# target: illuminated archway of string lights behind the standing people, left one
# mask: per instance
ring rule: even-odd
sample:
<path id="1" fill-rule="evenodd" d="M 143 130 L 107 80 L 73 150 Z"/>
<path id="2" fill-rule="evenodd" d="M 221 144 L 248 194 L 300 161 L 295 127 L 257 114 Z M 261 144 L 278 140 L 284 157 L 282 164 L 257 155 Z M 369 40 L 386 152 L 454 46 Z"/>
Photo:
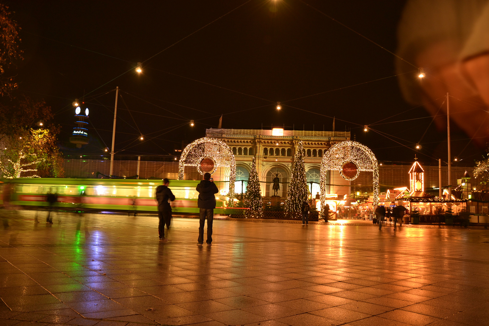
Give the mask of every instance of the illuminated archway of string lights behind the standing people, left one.
<path id="1" fill-rule="evenodd" d="M 206 161 L 207 160 L 207 161 Z M 209 171 L 202 171 L 203 163 L 207 163 Z M 236 161 L 233 151 L 222 140 L 203 137 L 190 143 L 183 150 L 178 162 L 178 180 L 183 180 L 186 166 L 195 166 L 200 174 L 213 173 L 217 168 L 229 167 L 229 193 L 230 202 L 234 198 L 234 182 L 236 181 Z"/>

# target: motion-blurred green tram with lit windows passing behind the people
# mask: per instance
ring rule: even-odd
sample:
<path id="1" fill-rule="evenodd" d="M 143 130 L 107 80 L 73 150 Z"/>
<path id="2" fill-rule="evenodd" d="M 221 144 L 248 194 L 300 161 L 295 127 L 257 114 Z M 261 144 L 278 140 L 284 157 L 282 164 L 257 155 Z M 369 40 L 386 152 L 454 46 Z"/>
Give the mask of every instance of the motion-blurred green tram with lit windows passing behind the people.
<path id="1" fill-rule="evenodd" d="M 47 207 L 47 193 L 56 193 L 55 207 L 66 210 L 91 212 L 147 212 L 156 213 L 156 187 L 161 180 L 132 179 L 58 179 L 17 178 L 3 179 L 1 203 L 9 200 L 10 205 L 25 209 Z M 170 180 L 170 189 L 175 195 L 171 203 L 173 212 L 199 213 L 195 190 L 200 180 Z M 239 214 L 243 209 L 228 208 L 224 186 L 226 182 L 215 182 L 220 192 L 216 194 L 215 214 Z"/>

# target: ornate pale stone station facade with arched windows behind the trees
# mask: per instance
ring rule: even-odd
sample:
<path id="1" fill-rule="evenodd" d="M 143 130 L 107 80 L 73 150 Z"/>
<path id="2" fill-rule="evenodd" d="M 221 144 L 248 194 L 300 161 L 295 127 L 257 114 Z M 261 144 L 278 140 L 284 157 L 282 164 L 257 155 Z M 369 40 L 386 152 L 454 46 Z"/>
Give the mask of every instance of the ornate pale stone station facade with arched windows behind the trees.
<path id="1" fill-rule="evenodd" d="M 350 140 L 350 132 L 345 131 L 311 131 L 284 130 L 273 128 L 261 129 L 207 129 L 206 137 L 222 140 L 233 151 L 236 160 L 235 194 L 241 195 L 246 191 L 246 184 L 251 171 L 252 158 L 256 158 L 258 177 L 261 183 L 262 196 L 274 195 L 273 179 L 279 178 L 280 189 L 277 196 L 285 199 L 290 182 L 292 163 L 297 144 L 302 141 L 306 166 L 308 188 L 315 196 L 319 193 L 319 178 L 321 161 L 328 149 L 336 143 Z M 228 181 L 229 171 L 216 171 L 215 179 Z M 349 193 L 348 181 L 343 179 L 338 171 L 330 171 L 328 184 L 331 186 L 327 193 L 339 196 Z"/>

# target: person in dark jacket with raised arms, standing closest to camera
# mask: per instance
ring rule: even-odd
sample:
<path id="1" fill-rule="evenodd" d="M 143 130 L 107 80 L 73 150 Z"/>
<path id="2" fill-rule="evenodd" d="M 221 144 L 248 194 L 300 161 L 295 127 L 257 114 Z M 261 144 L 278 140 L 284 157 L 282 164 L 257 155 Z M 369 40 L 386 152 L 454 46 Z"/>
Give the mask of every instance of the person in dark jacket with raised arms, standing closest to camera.
<path id="1" fill-rule="evenodd" d="M 199 225 L 199 239 L 197 239 L 197 245 L 201 246 L 204 243 L 204 224 L 207 217 L 207 245 L 212 243 L 212 221 L 214 220 L 214 208 L 216 208 L 216 197 L 214 194 L 219 193 L 214 180 L 211 178 L 210 173 L 204 174 L 204 179 L 200 181 L 195 188 L 199 192 L 199 199 L 197 199 L 197 207 L 199 207 L 200 225 Z"/>

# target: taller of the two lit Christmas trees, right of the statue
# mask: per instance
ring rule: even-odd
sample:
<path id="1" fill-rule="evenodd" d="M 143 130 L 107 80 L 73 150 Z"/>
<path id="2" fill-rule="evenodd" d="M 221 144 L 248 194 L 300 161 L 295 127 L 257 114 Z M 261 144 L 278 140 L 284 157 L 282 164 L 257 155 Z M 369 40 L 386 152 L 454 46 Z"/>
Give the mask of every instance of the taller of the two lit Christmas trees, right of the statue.
<path id="1" fill-rule="evenodd" d="M 285 213 L 287 216 L 300 216 L 302 204 L 308 200 L 308 188 L 306 180 L 306 167 L 304 166 L 304 147 L 299 141 L 294 155 L 292 175 L 287 188 Z"/>

